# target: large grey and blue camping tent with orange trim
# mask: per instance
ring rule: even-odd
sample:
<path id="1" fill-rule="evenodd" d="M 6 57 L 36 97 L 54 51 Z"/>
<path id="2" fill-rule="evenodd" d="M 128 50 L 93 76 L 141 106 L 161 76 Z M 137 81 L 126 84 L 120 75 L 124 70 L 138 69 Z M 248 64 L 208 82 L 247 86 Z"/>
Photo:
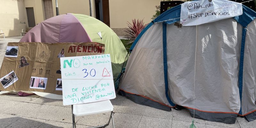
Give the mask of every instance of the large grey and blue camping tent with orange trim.
<path id="1" fill-rule="evenodd" d="M 243 5 L 240 16 L 180 28 L 180 11 L 165 11 L 136 38 L 119 93 L 154 108 L 183 106 L 208 121 L 255 120 L 256 12 Z"/>

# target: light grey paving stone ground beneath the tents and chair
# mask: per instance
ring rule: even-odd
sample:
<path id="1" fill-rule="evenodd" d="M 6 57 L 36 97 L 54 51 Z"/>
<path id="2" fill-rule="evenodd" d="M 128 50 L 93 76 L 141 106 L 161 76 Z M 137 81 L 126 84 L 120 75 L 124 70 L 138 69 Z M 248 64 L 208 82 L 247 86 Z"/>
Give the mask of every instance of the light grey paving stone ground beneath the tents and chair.
<path id="1" fill-rule="evenodd" d="M 0 66 L 8 42 L 19 42 L 20 36 L 0 38 Z M 192 117 L 188 110 L 164 111 L 143 106 L 116 95 L 114 106 L 115 128 L 189 128 Z M 77 128 L 102 125 L 110 113 L 77 116 Z M 106 128 L 112 128 L 112 120 Z M 237 117 L 235 124 L 223 124 L 195 119 L 197 128 L 256 128 L 256 121 L 247 122 Z M 0 95 L 0 128 L 72 128 L 71 106 L 62 100 L 47 99 L 38 95 L 20 97 Z"/>

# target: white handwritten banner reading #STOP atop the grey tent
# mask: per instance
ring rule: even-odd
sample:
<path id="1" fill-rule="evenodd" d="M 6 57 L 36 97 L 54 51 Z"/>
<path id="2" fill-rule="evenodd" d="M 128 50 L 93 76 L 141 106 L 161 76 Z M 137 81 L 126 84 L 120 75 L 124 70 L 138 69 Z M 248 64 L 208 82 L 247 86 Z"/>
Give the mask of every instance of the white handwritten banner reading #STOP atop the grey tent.
<path id="1" fill-rule="evenodd" d="M 241 3 L 228 0 L 199 0 L 181 4 L 180 23 L 193 26 L 243 14 Z"/>

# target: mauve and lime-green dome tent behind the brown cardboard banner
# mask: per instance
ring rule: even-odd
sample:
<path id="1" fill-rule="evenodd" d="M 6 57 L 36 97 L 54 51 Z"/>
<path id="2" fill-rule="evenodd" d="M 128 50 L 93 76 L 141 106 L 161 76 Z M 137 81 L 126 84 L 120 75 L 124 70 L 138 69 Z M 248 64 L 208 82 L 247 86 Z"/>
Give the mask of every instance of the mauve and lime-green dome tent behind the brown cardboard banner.
<path id="1" fill-rule="evenodd" d="M 67 13 L 36 25 L 20 42 L 98 42 L 105 44 L 105 54 L 110 54 L 114 80 L 121 72 L 127 51 L 116 33 L 93 17 Z M 128 59 L 128 58 L 127 58 Z"/>

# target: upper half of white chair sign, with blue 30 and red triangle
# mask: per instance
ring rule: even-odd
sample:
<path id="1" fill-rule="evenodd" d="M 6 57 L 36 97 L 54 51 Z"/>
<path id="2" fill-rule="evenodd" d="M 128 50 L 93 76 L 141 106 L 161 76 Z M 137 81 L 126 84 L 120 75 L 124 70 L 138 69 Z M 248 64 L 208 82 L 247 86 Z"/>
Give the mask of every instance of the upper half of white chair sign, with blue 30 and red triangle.
<path id="1" fill-rule="evenodd" d="M 61 79 L 113 79 L 110 54 L 61 57 Z"/>

